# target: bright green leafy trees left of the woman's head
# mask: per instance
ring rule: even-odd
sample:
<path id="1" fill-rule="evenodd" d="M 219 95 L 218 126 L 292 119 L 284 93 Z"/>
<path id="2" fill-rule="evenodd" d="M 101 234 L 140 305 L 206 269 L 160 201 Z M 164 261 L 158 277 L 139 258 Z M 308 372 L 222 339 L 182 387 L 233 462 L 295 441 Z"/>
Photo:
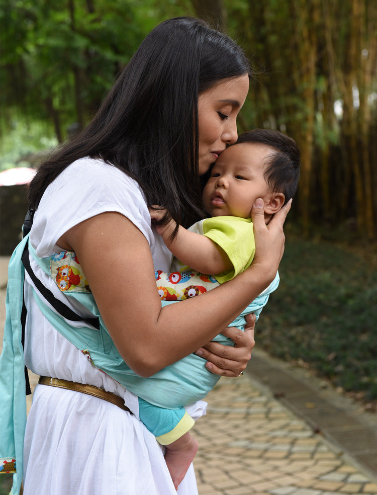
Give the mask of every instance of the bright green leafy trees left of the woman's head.
<path id="1" fill-rule="evenodd" d="M 2 108 L 50 119 L 60 139 L 83 125 L 145 35 L 189 2 L 3 0 Z M 2 119 L 2 127 L 5 122 Z"/>

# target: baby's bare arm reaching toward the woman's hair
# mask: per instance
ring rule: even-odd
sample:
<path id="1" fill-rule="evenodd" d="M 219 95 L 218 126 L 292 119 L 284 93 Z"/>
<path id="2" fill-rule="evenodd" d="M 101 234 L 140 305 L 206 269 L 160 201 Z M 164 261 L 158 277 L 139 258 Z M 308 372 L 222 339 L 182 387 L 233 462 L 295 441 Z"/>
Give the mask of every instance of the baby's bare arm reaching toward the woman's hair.
<path id="1" fill-rule="evenodd" d="M 152 220 L 161 219 L 165 211 L 163 208 L 150 209 Z M 225 251 L 205 235 L 190 232 L 179 225 L 178 233 L 172 239 L 171 234 L 175 227 L 176 223 L 171 218 L 164 225 L 156 226 L 156 230 L 171 253 L 181 263 L 207 275 L 217 275 L 233 268 Z"/>

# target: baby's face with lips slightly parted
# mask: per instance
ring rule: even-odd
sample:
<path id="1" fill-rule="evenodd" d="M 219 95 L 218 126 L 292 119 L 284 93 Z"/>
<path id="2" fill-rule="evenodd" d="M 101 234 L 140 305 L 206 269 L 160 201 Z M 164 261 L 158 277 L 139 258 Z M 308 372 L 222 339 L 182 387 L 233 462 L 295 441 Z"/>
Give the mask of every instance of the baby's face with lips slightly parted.
<path id="1" fill-rule="evenodd" d="M 263 175 L 265 158 L 272 152 L 254 143 L 235 144 L 223 151 L 203 191 L 207 213 L 250 218 L 254 201 L 266 202 L 271 194 Z"/>

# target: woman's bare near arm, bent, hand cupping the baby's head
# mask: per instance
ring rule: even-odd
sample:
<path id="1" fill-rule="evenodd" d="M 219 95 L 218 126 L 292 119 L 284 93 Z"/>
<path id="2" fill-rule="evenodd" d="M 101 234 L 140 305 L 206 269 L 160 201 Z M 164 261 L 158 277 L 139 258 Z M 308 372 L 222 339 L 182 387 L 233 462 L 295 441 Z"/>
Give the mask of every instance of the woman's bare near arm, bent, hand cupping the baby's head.
<path id="1" fill-rule="evenodd" d="M 120 213 L 89 218 L 68 230 L 58 243 L 77 254 L 123 359 L 137 374 L 149 376 L 211 341 L 268 286 L 284 250 L 282 225 L 288 210 L 276 214 L 267 227 L 263 203 L 254 208 L 257 251 L 253 264 L 201 297 L 164 308 L 156 291 L 149 244 Z"/>

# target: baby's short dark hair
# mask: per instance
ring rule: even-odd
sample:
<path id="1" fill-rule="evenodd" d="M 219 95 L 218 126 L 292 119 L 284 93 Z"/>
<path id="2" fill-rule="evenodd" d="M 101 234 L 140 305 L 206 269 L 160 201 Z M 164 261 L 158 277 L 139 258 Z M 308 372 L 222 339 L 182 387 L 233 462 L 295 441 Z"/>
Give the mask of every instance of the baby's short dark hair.
<path id="1" fill-rule="evenodd" d="M 273 148 L 268 156 L 264 179 L 275 193 L 284 194 L 286 204 L 296 193 L 300 179 L 300 149 L 296 141 L 279 131 L 253 129 L 238 136 L 235 144 L 262 144 Z"/>

